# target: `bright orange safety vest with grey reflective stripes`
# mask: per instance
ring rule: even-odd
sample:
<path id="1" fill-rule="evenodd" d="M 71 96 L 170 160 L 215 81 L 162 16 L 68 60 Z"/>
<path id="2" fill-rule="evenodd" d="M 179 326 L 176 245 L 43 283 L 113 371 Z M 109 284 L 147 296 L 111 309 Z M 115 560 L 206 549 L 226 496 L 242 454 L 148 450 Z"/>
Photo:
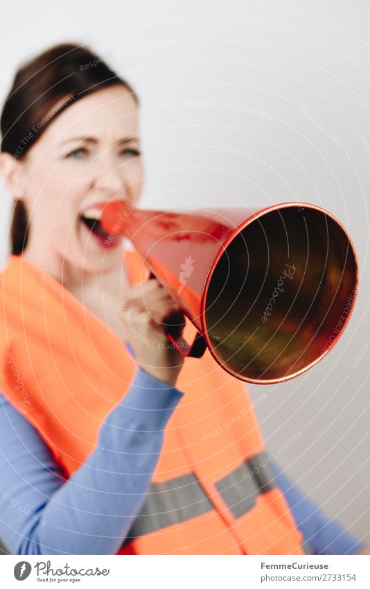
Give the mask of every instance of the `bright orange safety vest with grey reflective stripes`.
<path id="1" fill-rule="evenodd" d="M 148 278 L 136 252 L 124 261 L 132 284 Z M 11 255 L 0 285 L 0 390 L 68 478 L 124 402 L 136 363 L 121 338 L 42 268 Z M 207 350 L 185 360 L 177 388 L 185 394 L 117 554 L 303 554 L 245 383 Z"/>

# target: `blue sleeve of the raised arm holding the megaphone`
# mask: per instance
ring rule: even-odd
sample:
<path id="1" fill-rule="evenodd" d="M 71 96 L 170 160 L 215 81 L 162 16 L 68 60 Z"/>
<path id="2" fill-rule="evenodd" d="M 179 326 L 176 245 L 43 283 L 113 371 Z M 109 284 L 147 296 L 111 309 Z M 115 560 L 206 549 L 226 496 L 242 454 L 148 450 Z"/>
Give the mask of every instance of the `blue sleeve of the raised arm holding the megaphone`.
<path id="1" fill-rule="evenodd" d="M 115 554 L 145 500 L 184 393 L 141 368 L 66 481 L 36 429 L 0 395 L 0 538 L 12 554 Z"/>

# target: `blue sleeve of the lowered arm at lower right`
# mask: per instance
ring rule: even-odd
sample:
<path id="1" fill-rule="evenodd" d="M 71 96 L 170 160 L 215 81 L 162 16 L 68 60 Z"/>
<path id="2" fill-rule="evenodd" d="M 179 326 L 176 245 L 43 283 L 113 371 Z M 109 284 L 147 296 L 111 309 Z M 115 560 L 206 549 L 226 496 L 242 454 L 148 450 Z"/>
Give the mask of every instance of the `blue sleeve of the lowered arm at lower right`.
<path id="1" fill-rule="evenodd" d="M 276 464 L 272 462 L 270 466 L 311 554 L 357 554 L 364 547 L 364 543 L 346 531 L 339 522 L 326 517 Z"/>

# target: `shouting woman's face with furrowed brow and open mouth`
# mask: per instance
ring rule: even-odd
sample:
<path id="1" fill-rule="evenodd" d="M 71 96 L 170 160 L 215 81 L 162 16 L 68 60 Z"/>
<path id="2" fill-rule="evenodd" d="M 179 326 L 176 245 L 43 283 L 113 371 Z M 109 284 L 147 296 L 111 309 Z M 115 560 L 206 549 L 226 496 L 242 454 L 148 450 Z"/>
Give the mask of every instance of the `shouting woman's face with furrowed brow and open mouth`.
<path id="1" fill-rule="evenodd" d="M 107 245 L 107 234 L 98 223 L 93 230 L 91 225 L 106 203 L 134 205 L 139 200 L 143 167 L 138 136 L 136 102 L 123 85 L 72 103 L 49 123 L 17 161 L 30 219 L 26 251 L 33 257 L 45 254 L 46 267 L 49 255 L 50 262 L 56 257 L 89 273 L 102 271 L 103 258 L 104 271 L 122 261 L 123 237 Z M 84 214 L 90 221 L 83 221 Z"/>

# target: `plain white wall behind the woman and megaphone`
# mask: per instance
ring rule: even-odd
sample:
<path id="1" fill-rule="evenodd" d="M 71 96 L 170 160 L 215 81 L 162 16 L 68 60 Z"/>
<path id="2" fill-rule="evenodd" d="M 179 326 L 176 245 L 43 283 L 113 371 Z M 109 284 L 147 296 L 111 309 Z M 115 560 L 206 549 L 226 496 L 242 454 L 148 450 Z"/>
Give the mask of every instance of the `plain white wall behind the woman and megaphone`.
<path id="1" fill-rule="evenodd" d="M 344 336 L 305 375 L 249 391 L 267 393 L 257 412 L 269 452 L 301 432 L 279 464 L 370 542 L 369 3 L 7 0 L 0 21 L 1 99 L 20 60 L 66 40 L 88 42 L 134 85 L 148 208 L 303 200 L 346 225 L 360 294 Z M 3 187 L 0 197 L 3 263 Z"/>

